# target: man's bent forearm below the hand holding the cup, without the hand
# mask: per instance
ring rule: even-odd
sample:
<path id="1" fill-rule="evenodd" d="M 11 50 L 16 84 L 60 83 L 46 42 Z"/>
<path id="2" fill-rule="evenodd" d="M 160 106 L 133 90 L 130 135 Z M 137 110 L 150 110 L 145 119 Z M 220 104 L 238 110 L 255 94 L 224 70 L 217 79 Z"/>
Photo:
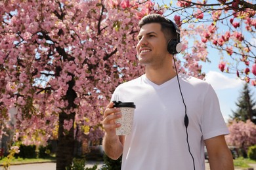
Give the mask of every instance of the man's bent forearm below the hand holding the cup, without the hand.
<path id="1" fill-rule="evenodd" d="M 123 144 L 120 142 L 118 136 L 110 138 L 105 134 L 102 145 L 106 155 L 113 160 L 117 160 L 123 153 Z"/>

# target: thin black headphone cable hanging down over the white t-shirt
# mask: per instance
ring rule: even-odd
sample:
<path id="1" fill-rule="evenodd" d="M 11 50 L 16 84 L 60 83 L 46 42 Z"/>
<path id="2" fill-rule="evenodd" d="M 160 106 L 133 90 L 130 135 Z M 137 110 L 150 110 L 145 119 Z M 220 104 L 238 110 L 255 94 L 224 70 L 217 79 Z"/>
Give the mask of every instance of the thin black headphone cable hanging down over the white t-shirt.
<path id="1" fill-rule="evenodd" d="M 173 63 L 174 63 L 174 66 L 175 66 L 175 71 L 176 71 L 177 80 L 178 80 L 178 84 L 179 84 L 179 90 L 180 90 L 180 92 L 181 92 L 181 84 L 180 84 L 180 81 L 179 81 L 179 75 L 178 75 L 178 71 L 177 71 L 177 67 L 176 67 L 176 63 L 175 63 L 174 54 L 173 54 Z M 185 124 L 185 127 L 186 127 L 186 143 L 188 143 L 188 152 L 190 153 L 190 156 L 192 157 L 193 165 L 194 165 L 194 170 L 196 170 L 195 161 L 194 161 L 194 156 L 193 156 L 192 153 L 190 152 L 190 144 L 189 144 L 189 142 L 188 142 L 188 115 L 186 114 L 186 104 L 185 104 L 185 102 L 184 102 L 184 97 L 183 97 L 183 95 L 182 95 L 182 92 L 181 92 L 181 97 L 182 97 L 182 102 L 183 102 L 184 107 L 185 107 L 184 124 Z"/>

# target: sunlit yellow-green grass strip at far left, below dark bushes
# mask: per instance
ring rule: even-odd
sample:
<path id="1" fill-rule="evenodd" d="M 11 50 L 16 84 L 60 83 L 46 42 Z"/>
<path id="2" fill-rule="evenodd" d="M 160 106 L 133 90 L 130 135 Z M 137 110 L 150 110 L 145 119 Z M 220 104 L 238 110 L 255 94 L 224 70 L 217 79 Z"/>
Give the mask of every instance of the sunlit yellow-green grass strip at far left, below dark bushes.
<path id="1" fill-rule="evenodd" d="M 7 158 L 3 158 L 2 160 L 0 160 L 0 165 L 3 165 L 3 163 L 5 163 L 7 161 Z M 56 158 L 17 158 L 17 159 L 12 159 L 11 160 L 11 165 L 15 165 L 15 164 L 23 164 L 23 163 L 42 163 L 42 162 L 49 162 L 49 161 L 56 161 Z"/>

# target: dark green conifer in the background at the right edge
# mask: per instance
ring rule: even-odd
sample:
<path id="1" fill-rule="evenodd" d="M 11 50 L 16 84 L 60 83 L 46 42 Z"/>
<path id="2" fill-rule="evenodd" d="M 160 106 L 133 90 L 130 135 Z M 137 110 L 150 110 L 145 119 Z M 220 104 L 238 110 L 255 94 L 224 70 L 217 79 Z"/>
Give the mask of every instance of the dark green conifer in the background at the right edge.
<path id="1" fill-rule="evenodd" d="M 240 97 L 238 98 L 238 102 L 236 105 L 238 109 L 233 111 L 232 119 L 234 120 L 242 120 L 245 122 L 246 120 L 251 120 L 254 124 L 256 124 L 256 102 L 252 99 L 252 94 L 250 93 L 248 84 L 244 85 L 244 88 L 241 92 Z"/>

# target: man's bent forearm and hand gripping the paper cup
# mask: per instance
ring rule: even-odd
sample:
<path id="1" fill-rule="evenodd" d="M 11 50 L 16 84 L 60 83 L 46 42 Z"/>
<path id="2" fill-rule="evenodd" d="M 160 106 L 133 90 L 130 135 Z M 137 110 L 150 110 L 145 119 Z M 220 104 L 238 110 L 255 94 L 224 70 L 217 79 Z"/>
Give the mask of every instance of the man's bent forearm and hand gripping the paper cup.
<path id="1" fill-rule="evenodd" d="M 125 136 L 117 136 L 116 128 L 121 126 L 116 124 L 115 120 L 121 117 L 119 109 L 113 108 L 114 103 L 110 102 L 103 116 L 103 127 L 106 131 L 102 145 L 106 155 L 113 160 L 117 160 L 123 153 L 123 144 Z"/>

